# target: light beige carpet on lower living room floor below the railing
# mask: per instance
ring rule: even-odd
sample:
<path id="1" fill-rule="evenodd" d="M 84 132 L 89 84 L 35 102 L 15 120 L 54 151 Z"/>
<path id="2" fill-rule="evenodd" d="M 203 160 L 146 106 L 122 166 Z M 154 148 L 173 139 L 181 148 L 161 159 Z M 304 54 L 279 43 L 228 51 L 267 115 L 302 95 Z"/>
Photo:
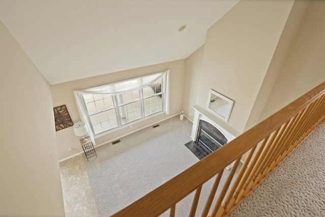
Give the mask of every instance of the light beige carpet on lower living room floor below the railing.
<path id="1" fill-rule="evenodd" d="M 125 136 L 117 144 L 96 148 L 98 158 L 86 162 L 102 217 L 126 207 L 199 161 L 184 145 L 191 140 L 192 124 L 187 119 L 174 117 L 159 125 Z M 227 170 L 223 172 L 221 183 L 228 174 Z M 198 213 L 213 182 L 214 179 L 209 180 L 202 188 Z M 188 215 L 193 196 L 194 193 L 177 204 L 176 216 Z M 162 216 L 169 216 L 169 211 Z"/>

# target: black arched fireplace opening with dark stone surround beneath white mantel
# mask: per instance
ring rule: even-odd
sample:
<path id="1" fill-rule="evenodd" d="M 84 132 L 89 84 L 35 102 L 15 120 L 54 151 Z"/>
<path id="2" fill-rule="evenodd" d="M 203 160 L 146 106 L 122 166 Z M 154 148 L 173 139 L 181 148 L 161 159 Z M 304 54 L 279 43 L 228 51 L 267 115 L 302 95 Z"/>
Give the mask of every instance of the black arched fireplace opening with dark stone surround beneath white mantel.
<path id="1" fill-rule="evenodd" d="M 207 152 L 207 154 L 216 151 L 228 142 L 225 136 L 216 127 L 203 120 L 200 120 L 197 135 L 196 142 Z"/>

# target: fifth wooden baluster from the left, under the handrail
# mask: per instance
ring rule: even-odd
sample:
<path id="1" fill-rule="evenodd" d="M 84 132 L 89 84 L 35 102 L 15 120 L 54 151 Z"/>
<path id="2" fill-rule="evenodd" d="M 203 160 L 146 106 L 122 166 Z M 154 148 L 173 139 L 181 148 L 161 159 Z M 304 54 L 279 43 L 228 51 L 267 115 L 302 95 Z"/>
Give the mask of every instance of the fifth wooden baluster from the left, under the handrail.
<path id="1" fill-rule="evenodd" d="M 224 212 L 221 215 L 226 213 L 227 210 L 229 210 L 231 208 L 231 206 L 233 205 L 233 203 L 235 202 L 234 193 L 240 183 L 240 180 L 243 178 L 244 172 L 247 169 L 248 163 L 249 163 L 250 159 L 252 158 L 256 147 L 257 147 L 257 144 L 255 144 L 255 146 L 250 150 L 248 156 L 246 157 L 244 164 L 242 165 L 242 167 L 240 168 L 240 171 L 238 172 L 238 174 L 236 176 L 236 179 L 235 179 L 232 187 L 230 188 L 228 194 L 226 195 L 224 202 L 222 203 Z"/>

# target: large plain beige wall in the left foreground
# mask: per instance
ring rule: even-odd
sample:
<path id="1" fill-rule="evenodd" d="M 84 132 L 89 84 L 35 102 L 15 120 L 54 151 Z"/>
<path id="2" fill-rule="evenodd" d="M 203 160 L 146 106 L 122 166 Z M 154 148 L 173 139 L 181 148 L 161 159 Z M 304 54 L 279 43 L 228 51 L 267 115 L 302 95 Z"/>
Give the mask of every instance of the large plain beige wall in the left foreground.
<path id="1" fill-rule="evenodd" d="M 48 82 L 0 22 L 1 216 L 64 216 Z"/>

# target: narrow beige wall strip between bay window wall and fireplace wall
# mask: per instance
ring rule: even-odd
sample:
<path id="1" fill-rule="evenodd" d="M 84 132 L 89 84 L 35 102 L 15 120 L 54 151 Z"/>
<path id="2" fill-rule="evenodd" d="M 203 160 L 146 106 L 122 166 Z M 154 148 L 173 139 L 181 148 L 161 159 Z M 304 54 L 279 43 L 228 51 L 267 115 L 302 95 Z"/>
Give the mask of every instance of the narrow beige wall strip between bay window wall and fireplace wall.
<path id="1" fill-rule="evenodd" d="M 186 58 L 182 110 L 193 121 L 192 106 L 197 103 L 204 45 Z"/>

